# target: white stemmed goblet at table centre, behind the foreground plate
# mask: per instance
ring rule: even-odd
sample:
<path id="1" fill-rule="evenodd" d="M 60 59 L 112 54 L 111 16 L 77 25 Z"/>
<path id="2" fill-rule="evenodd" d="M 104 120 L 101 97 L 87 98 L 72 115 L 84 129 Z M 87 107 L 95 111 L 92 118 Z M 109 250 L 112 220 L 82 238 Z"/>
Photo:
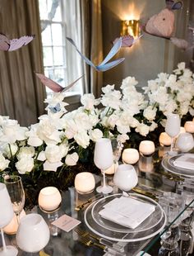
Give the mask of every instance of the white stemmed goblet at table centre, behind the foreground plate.
<path id="1" fill-rule="evenodd" d="M 105 179 L 105 169 L 109 168 L 113 164 L 113 148 L 111 145 L 111 140 L 101 138 L 96 141 L 94 162 L 103 173 L 103 186 L 97 187 L 96 191 L 99 193 L 103 192 L 104 194 L 112 192 L 113 187 L 107 185 Z"/>

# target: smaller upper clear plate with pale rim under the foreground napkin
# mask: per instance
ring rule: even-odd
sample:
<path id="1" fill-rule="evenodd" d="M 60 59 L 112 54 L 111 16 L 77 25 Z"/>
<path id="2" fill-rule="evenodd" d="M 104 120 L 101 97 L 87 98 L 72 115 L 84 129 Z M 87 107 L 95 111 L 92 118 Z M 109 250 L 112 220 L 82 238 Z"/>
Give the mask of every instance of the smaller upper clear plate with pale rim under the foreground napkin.
<path id="1" fill-rule="evenodd" d="M 155 211 L 148 217 L 146 220 L 144 220 L 141 225 L 138 225 L 136 229 L 130 229 L 128 227 L 124 227 L 123 225 L 118 225 L 116 223 L 104 219 L 102 216 L 99 215 L 99 211 L 104 209 L 104 206 L 109 202 L 112 201 L 116 197 L 122 197 L 122 194 L 114 194 L 102 199 L 99 199 L 98 201 L 95 202 L 94 206 L 91 209 L 91 216 L 95 222 L 104 227 L 104 229 L 111 230 L 113 232 L 121 232 L 121 233 L 135 233 L 135 232 L 140 232 L 140 231 L 146 231 L 150 230 L 151 228 L 154 228 L 155 225 L 158 225 L 159 222 L 163 218 L 163 211 L 161 209 L 161 206 L 159 204 L 150 199 L 149 197 L 144 197 L 138 194 L 132 194 L 131 197 L 135 198 L 136 200 L 143 201 L 145 203 L 149 203 L 155 206 Z"/>

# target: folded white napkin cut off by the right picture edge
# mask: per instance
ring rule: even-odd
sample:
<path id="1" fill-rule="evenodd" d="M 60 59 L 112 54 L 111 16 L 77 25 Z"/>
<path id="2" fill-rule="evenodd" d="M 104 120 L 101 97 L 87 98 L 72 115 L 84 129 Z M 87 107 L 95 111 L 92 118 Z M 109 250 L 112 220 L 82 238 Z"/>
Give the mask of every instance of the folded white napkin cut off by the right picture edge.
<path id="1" fill-rule="evenodd" d="M 179 168 L 187 168 L 194 171 L 194 154 L 183 154 L 173 161 L 173 165 Z"/>

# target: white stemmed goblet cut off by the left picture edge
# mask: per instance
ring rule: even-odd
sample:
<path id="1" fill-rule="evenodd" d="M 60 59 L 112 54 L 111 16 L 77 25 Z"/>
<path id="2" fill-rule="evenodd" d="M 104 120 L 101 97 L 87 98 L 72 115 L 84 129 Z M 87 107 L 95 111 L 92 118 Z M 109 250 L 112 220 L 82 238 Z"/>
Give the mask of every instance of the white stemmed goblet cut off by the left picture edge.
<path id="1" fill-rule="evenodd" d="M 12 246 L 6 246 L 3 230 L 10 223 L 13 217 L 13 207 L 12 201 L 10 200 L 9 194 L 7 192 L 7 187 L 5 184 L 0 183 L 0 229 L 2 234 L 2 249 L 0 249 L 0 256 L 16 256 L 18 250 Z"/>

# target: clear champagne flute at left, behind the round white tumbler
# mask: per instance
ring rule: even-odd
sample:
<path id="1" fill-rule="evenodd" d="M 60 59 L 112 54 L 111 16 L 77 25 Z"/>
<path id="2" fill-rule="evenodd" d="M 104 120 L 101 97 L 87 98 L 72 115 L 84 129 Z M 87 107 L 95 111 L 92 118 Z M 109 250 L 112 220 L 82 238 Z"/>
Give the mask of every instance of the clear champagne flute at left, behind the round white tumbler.
<path id="1" fill-rule="evenodd" d="M 20 214 L 25 204 L 25 192 L 20 176 L 8 176 L 4 180 L 7 191 L 10 195 L 13 211 L 16 214 L 18 225 L 20 223 Z"/>

